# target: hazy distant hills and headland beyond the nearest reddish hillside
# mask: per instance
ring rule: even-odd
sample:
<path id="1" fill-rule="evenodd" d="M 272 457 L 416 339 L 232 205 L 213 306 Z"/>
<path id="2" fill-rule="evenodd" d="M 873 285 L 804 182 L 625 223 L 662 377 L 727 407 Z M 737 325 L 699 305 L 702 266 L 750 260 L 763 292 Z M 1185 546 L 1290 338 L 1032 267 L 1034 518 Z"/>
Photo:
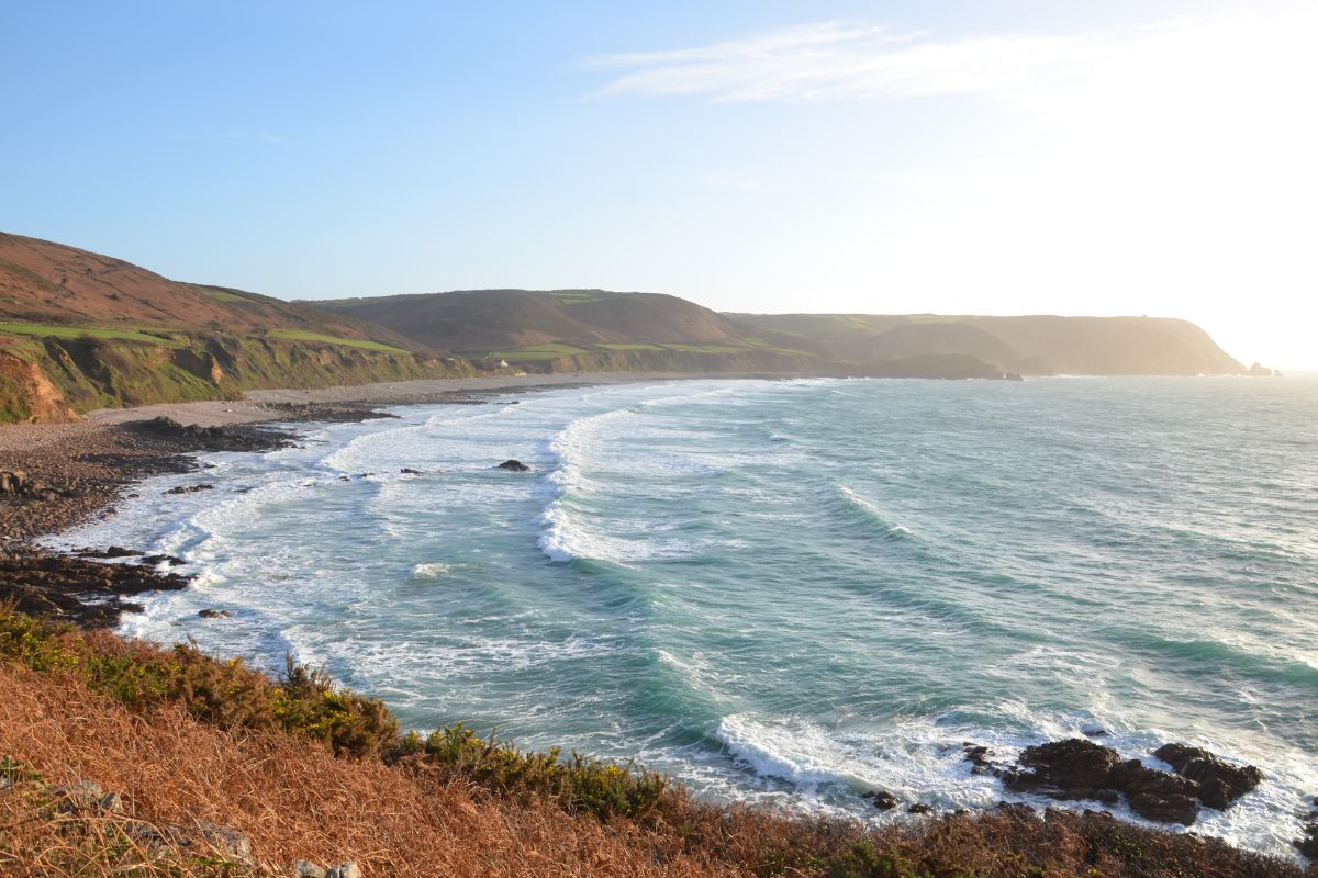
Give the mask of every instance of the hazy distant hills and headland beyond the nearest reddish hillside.
<path id="1" fill-rule="evenodd" d="M 1240 374 L 1157 317 L 718 313 L 670 295 L 480 290 L 312 303 L 414 342 L 538 371 L 764 370 L 891 378 Z"/>

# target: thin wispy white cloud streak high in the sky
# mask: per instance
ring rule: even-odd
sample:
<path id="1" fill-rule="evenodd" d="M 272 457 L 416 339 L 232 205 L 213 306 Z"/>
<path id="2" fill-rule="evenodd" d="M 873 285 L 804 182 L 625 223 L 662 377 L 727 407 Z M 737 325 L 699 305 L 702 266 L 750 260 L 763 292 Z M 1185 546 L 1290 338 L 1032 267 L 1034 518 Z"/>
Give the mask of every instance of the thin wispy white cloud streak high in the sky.
<path id="1" fill-rule="evenodd" d="M 1099 34 L 938 38 L 836 21 L 672 51 L 596 58 L 618 71 L 597 97 L 685 95 L 710 101 L 903 99 L 1046 86 L 1094 63 L 1140 54 L 1191 22 Z"/>

